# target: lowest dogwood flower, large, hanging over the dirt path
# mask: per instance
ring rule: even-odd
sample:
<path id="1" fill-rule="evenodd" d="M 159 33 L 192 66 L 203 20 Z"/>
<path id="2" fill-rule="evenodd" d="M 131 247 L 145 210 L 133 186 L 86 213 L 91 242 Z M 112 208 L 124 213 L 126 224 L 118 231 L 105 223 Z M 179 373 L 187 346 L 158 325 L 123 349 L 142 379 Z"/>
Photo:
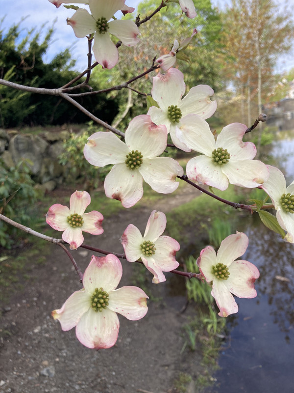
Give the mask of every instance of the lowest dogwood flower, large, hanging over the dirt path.
<path id="1" fill-rule="evenodd" d="M 61 309 L 52 316 L 63 331 L 73 329 L 77 339 L 88 348 L 110 348 L 118 338 L 120 322 L 117 312 L 131 321 L 147 313 L 146 293 L 136 286 L 115 289 L 123 268 L 113 254 L 92 256 L 85 270 L 83 289 L 73 292 Z"/>

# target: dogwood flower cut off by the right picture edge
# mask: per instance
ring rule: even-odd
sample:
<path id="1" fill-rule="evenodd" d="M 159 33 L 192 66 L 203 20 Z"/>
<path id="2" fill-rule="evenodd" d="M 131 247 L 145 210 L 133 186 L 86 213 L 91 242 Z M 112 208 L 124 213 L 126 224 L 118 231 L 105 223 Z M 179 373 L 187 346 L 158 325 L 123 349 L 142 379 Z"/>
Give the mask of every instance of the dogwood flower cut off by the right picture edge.
<path id="1" fill-rule="evenodd" d="M 286 188 L 286 180 L 280 169 L 270 165 L 267 167 L 270 170 L 270 177 L 261 188 L 274 204 L 278 223 L 288 232 L 285 240 L 294 243 L 294 181 Z"/>

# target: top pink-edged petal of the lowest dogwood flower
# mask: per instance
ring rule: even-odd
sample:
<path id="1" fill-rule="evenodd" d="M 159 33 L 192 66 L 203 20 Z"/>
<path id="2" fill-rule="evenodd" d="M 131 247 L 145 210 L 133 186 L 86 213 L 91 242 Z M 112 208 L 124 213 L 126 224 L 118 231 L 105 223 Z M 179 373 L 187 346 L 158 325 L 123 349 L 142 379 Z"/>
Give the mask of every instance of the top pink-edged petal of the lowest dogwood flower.
<path id="1" fill-rule="evenodd" d="M 89 266 L 85 270 L 83 285 L 86 291 L 91 294 L 94 294 L 96 288 L 101 287 L 109 293 L 118 286 L 122 274 L 122 264 L 115 255 L 93 255 Z"/>

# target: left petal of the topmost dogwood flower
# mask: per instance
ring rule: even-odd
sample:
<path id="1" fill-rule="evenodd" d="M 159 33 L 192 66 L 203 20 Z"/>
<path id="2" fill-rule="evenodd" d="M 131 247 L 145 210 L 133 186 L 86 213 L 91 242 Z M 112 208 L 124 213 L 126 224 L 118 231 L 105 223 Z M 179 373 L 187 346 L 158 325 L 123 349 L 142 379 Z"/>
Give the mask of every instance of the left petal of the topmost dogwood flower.
<path id="1" fill-rule="evenodd" d="M 86 37 L 86 35 L 92 34 L 96 30 L 95 19 L 84 8 L 79 8 L 71 18 L 68 18 L 67 24 L 72 26 L 77 38 Z"/>

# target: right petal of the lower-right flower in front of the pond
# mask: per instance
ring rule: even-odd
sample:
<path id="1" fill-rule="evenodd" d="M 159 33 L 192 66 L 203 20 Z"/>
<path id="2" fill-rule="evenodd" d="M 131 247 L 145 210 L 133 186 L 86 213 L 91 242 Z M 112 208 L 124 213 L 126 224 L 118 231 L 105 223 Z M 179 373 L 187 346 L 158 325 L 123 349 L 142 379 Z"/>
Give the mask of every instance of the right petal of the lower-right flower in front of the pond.
<path id="1" fill-rule="evenodd" d="M 254 282 L 259 278 L 257 267 L 248 261 L 238 260 L 230 265 L 229 272 L 228 280 L 224 281 L 228 290 L 238 298 L 255 298 Z"/>

